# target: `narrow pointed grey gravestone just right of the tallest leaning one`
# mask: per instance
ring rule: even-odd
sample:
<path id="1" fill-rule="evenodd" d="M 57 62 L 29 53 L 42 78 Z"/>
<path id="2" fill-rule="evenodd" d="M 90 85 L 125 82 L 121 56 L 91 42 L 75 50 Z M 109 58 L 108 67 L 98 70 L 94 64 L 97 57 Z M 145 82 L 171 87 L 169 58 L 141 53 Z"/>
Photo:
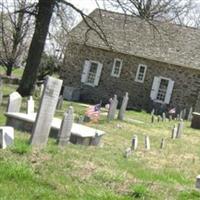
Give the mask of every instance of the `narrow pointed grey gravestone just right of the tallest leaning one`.
<path id="1" fill-rule="evenodd" d="M 74 121 L 73 112 L 73 107 L 70 106 L 62 120 L 61 127 L 58 133 L 58 145 L 60 146 L 69 144 L 71 129 Z"/>

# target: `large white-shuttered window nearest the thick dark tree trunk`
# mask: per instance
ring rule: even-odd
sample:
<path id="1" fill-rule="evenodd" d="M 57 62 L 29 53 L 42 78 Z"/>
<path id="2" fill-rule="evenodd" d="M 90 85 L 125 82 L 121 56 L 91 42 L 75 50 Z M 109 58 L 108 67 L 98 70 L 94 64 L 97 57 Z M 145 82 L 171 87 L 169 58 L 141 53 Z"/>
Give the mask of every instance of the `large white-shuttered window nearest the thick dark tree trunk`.
<path id="1" fill-rule="evenodd" d="M 81 76 L 81 82 L 90 85 L 97 86 L 101 76 L 103 65 L 94 60 L 86 60 L 83 66 L 83 72 Z"/>

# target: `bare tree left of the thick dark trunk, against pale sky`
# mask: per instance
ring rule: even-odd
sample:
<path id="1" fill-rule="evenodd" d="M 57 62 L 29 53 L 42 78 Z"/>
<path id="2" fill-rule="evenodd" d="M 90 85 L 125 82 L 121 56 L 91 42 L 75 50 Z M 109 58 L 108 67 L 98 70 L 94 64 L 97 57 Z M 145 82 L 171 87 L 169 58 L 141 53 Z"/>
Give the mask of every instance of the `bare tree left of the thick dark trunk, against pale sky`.
<path id="1" fill-rule="evenodd" d="M 26 0 L 17 0 L 12 5 L 2 0 L 0 3 L 0 62 L 11 75 L 13 67 L 18 66 L 26 55 L 27 35 L 30 33 L 30 15 L 16 12 L 30 9 Z"/>

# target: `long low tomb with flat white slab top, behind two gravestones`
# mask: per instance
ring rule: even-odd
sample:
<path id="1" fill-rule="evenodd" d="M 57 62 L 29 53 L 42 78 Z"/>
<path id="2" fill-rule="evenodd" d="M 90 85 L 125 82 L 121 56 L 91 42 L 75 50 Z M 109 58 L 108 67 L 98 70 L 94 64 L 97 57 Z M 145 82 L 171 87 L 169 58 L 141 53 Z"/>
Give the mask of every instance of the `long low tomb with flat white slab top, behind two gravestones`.
<path id="1" fill-rule="evenodd" d="M 33 124 L 35 123 L 36 115 L 37 113 L 26 114 L 7 112 L 5 113 L 5 116 L 7 117 L 6 125 L 20 129 L 22 131 L 31 132 Z M 61 119 L 53 118 L 50 131 L 51 137 L 57 137 L 61 122 Z M 73 123 L 70 142 L 74 144 L 98 145 L 100 143 L 101 137 L 104 134 L 104 131 L 97 130 L 82 124 Z"/>

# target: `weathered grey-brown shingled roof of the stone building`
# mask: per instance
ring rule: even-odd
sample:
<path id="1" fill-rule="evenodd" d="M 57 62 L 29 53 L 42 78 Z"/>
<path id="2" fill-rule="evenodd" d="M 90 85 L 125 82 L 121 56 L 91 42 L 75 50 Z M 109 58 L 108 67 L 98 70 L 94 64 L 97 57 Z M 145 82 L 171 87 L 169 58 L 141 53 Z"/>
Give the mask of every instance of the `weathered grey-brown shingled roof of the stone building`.
<path id="1" fill-rule="evenodd" d="M 152 26 L 138 17 L 99 9 L 90 17 L 102 27 L 114 51 L 200 69 L 199 29 L 158 21 Z M 71 31 L 73 41 L 83 43 L 87 30 L 82 21 Z M 87 45 L 109 49 L 94 31 L 87 36 Z"/>

